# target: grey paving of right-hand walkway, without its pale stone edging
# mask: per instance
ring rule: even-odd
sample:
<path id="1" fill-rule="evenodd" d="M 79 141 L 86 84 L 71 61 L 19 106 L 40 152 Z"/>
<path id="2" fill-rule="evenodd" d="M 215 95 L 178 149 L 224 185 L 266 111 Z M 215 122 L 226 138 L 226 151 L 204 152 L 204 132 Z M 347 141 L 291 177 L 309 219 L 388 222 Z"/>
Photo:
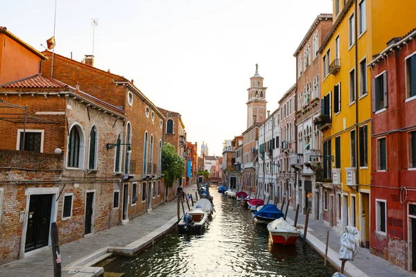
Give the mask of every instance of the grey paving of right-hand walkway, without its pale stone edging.
<path id="1" fill-rule="evenodd" d="M 295 211 L 289 208 L 288 218 L 295 220 Z M 297 218 L 297 225 L 304 224 L 306 215 L 299 213 Z M 302 230 L 301 230 L 302 231 Z M 329 249 L 332 249 L 337 254 L 340 251 L 340 235 L 333 231 L 330 227 L 324 225 L 318 220 L 314 220 L 309 217 L 308 222 L 308 235 L 312 234 L 315 238 L 320 240 L 323 244 L 327 241 L 327 231 L 329 231 Z M 306 238 L 308 238 L 306 235 Z M 347 264 L 346 263 L 346 267 Z M 358 247 L 357 255 L 354 261 L 351 262 L 356 268 L 363 271 L 367 276 L 395 276 L 395 277 L 404 277 L 404 276 L 415 276 L 409 271 L 405 271 L 392 263 L 370 254 L 368 249 Z"/>

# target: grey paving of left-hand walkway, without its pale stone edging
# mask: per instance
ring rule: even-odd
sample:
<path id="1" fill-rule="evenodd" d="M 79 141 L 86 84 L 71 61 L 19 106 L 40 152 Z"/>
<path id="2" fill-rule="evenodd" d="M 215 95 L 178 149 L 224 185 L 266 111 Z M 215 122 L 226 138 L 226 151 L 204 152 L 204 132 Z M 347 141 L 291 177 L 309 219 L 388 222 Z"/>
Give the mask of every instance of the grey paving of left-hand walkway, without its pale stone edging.
<path id="1" fill-rule="evenodd" d="M 195 197 L 196 185 L 184 188 L 185 193 L 192 193 Z M 187 204 L 184 203 L 185 212 L 188 211 Z M 182 216 L 182 206 L 181 206 Z M 126 245 L 143 238 L 152 231 L 177 216 L 177 202 L 175 200 L 166 204 L 161 204 L 154 208 L 150 213 L 146 213 L 128 224 L 112 227 L 98 233 L 94 233 L 75 242 L 64 244 L 60 247 L 62 268 L 79 260 L 94 251 L 103 247 L 125 247 Z M 0 265 L 0 276 L 31 276 L 31 277 L 53 277 L 53 258 L 50 248 L 36 253 L 33 256 Z M 68 272 L 62 271 L 62 276 L 73 276 Z"/>

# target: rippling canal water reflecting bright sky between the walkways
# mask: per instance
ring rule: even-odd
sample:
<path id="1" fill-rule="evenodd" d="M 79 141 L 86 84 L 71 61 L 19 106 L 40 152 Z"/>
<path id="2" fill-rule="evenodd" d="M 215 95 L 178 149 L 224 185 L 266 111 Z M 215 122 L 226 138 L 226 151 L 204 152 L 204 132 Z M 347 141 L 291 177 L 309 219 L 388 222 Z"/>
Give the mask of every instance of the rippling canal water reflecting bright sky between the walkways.
<path id="1" fill-rule="evenodd" d="M 105 271 L 123 276 L 332 276 L 310 247 L 274 245 L 266 225 L 254 224 L 251 212 L 236 199 L 213 191 L 216 213 L 202 235 L 172 231 L 133 258 L 116 258 Z M 185 205 L 186 206 L 186 205 Z"/>

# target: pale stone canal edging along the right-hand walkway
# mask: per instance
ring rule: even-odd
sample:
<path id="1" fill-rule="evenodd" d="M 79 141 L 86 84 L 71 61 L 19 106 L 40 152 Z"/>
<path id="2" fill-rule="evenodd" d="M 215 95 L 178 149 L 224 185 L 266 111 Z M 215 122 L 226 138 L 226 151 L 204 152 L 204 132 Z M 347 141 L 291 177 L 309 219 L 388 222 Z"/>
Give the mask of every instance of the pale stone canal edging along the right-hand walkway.
<path id="1" fill-rule="evenodd" d="M 294 224 L 293 220 L 290 217 L 286 218 L 286 221 L 289 224 Z M 300 237 L 302 240 L 304 239 L 304 229 L 299 229 L 300 231 Z M 321 242 L 318 238 L 316 238 L 311 233 L 308 233 L 306 236 L 306 243 L 309 244 L 315 251 L 317 251 L 320 256 L 325 256 L 325 244 Z M 334 267 L 336 270 L 340 271 L 341 268 L 341 261 L 339 260 L 338 253 L 336 251 L 333 251 L 333 249 L 328 248 L 328 255 L 327 260 L 329 263 Z M 349 277 L 369 277 L 367 274 L 365 274 L 361 269 L 358 269 L 355 265 L 352 265 L 351 262 L 345 263 L 345 269 L 344 274 Z"/>

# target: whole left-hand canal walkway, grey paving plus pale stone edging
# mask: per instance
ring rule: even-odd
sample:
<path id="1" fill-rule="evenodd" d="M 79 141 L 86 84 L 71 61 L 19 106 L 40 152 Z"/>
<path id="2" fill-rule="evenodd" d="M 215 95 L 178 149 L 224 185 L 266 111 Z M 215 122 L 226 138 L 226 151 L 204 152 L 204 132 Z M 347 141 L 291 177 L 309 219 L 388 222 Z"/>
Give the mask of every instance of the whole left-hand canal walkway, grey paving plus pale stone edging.
<path id="1" fill-rule="evenodd" d="M 195 197 L 196 185 L 184 188 L 185 193 L 192 193 Z M 185 211 L 188 211 L 184 203 Z M 182 207 L 181 207 L 182 216 Z M 162 204 L 153 211 L 146 213 L 128 224 L 115 226 L 98 233 L 94 233 L 75 242 L 69 242 L 60 247 L 62 260 L 62 276 L 87 277 L 96 276 L 102 272 L 101 267 L 89 267 L 94 264 L 94 258 L 103 256 L 107 249 L 112 251 L 131 251 L 144 243 L 168 231 L 177 221 L 177 202 L 175 200 Z M 83 262 L 85 261 L 85 262 Z M 77 266 L 81 265 L 83 266 Z M 68 269 L 71 269 L 69 271 Z M 8 277 L 53 277 L 53 258 L 50 248 L 32 256 L 0 265 L 0 276 Z"/>

